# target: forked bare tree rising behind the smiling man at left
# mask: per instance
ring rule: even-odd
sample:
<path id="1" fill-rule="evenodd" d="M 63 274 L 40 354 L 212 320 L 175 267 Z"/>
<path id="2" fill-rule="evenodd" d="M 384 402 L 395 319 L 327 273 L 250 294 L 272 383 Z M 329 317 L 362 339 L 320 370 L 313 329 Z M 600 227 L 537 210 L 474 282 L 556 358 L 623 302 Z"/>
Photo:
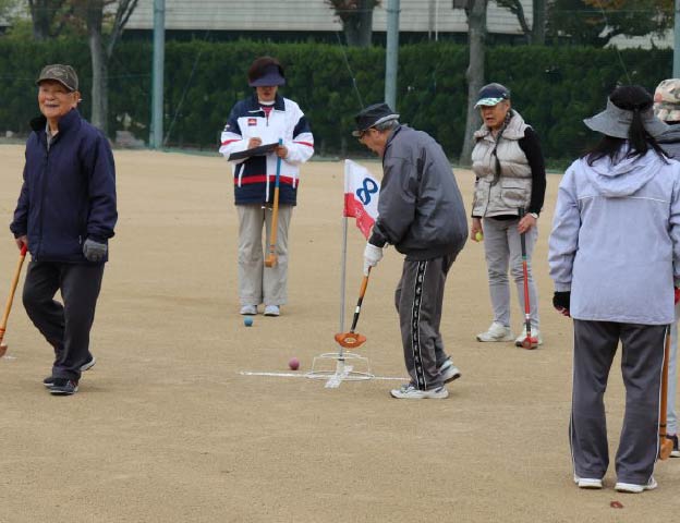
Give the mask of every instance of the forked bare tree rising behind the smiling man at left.
<path id="1" fill-rule="evenodd" d="M 93 125 L 108 131 L 109 78 L 108 68 L 116 44 L 120 40 L 130 15 L 138 0 L 72 0 L 77 3 L 78 14 L 87 26 L 87 39 L 92 58 L 92 115 Z M 111 14 L 109 14 L 111 13 Z M 110 19 L 110 23 L 109 22 Z M 106 24 L 105 24 L 106 22 Z M 108 32 L 105 33 L 105 26 Z"/>

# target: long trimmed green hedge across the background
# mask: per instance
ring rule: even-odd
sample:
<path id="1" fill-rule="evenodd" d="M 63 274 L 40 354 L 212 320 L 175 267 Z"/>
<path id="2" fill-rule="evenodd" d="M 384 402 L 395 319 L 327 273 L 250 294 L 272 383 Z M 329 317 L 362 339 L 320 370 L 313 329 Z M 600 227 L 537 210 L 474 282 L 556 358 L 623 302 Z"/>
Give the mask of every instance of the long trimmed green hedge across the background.
<path id="1" fill-rule="evenodd" d="M 168 145 L 216 150 L 233 104 L 250 94 L 245 72 L 260 54 L 287 68 L 282 94 L 307 114 L 320 155 L 361 154 L 351 138 L 361 104 L 382 99 L 385 49 L 351 49 L 326 44 L 169 41 L 166 48 L 165 131 Z M 72 63 L 80 73 L 89 114 L 92 69 L 85 40 L 47 44 L 0 38 L 0 122 L 28 132 L 36 113 L 34 81 L 49 62 Z M 671 74 L 670 50 L 612 50 L 584 47 L 494 47 L 486 76 L 512 90 L 514 107 L 542 137 L 554 160 L 576 156 L 593 138 L 583 118 L 602 110 L 617 84 L 641 84 L 651 92 Z M 462 147 L 465 123 L 467 48 L 425 42 L 399 50 L 398 110 L 401 120 L 433 134 L 451 158 Z M 149 42 L 123 41 L 110 66 L 110 134 L 127 129 L 148 139 L 150 120 Z M 360 101 L 361 100 L 361 101 Z M 124 118 L 126 115 L 126 118 Z M 2 130 L 0 130 L 1 132 Z"/>

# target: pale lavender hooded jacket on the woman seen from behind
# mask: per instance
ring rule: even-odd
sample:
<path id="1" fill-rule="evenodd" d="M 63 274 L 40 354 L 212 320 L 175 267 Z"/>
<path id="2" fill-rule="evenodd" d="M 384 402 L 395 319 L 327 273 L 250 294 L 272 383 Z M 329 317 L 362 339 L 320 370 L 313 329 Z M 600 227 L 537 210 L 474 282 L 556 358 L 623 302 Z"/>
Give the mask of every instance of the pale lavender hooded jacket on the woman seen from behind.
<path id="1" fill-rule="evenodd" d="M 555 290 L 571 290 L 576 319 L 675 321 L 680 163 L 654 150 L 574 161 L 559 185 L 548 262 Z"/>

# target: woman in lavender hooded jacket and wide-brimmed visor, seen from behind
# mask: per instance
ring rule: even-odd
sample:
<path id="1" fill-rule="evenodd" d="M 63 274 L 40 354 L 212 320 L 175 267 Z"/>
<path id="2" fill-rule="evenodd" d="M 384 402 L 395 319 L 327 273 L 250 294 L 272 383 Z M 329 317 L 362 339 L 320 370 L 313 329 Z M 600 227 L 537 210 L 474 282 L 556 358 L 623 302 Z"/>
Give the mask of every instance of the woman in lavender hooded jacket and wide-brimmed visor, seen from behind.
<path id="1" fill-rule="evenodd" d="M 619 342 L 626 414 L 616 490 L 656 488 L 664 342 L 680 281 L 680 163 L 655 137 L 642 87 L 616 88 L 584 120 L 604 136 L 559 185 L 548 262 L 552 304 L 574 329 L 570 445 L 574 482 L 602 488 L 609 465 L 604 393 Z"/>

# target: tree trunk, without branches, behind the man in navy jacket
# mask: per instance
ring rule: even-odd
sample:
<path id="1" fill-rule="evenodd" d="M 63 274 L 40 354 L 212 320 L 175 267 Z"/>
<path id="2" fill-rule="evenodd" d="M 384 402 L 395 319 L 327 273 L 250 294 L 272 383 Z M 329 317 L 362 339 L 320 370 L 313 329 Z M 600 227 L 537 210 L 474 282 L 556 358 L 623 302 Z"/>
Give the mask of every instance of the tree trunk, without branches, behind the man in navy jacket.
<path id="1" fill-rule="evenodd" d="M 107 114 L 109 106 L 107 56 L 101 37 L 101 22 L 104 17 L 102 0 L 93 0 L 87 5 L 87 34 L 89 54 L 92 57 L 92 115 L 90 123 L 107 134 Z"/>

